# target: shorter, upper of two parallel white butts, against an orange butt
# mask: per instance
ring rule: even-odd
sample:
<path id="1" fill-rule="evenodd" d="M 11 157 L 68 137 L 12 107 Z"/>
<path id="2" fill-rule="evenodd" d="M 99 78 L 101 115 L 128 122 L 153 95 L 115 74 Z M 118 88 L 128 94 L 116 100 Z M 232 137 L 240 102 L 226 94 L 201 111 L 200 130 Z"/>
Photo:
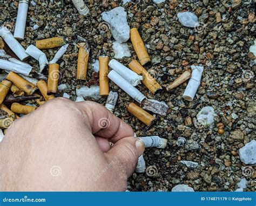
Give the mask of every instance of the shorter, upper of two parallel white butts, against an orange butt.
<path id="1" fill-rule="evenodd" d="M 117 60 L 112 59 L 109 62 L 109 66 L 114 71 L 116 71 L 121 77 L 123 77 L 126 81 L 128 81 L 132 86 L 137 86 L 138 84 L 140 84 L 140 80 L 143 79 L 142 76 L 129 70 L 129 68 L 119 63 Z"/>

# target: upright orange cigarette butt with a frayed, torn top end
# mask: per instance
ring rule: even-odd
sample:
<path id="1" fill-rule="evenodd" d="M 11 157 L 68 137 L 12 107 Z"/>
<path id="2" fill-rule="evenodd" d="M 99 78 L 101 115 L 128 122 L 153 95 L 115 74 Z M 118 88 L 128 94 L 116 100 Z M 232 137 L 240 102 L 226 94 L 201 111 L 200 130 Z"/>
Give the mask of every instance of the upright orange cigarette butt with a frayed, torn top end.
<path id="1" fill-rule="evenodd" d="M 87 50 L 87 43 L 79 43 L 79 52 L 77 59 L 77 79 L 86 80 L 87 65 L 89 59 L 89 51 Z"/>

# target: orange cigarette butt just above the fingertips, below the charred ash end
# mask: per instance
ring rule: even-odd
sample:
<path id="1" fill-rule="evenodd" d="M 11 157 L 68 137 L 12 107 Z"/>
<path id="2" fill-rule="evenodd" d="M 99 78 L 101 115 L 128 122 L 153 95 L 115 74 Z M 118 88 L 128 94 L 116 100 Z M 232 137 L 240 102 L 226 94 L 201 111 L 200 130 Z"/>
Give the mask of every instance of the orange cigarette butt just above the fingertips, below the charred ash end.
<path id="1" fill-rule="evenodd" d="M 134 103 L 130 103 L 128 105 L 127 111 L 136 116 L 136 118 L 145 123 L 147 126 L 149 126 L 154 120 L 154 116 L 152 116 L 150 113 L 147 113 L 144 109 L 140 108 Z"/>

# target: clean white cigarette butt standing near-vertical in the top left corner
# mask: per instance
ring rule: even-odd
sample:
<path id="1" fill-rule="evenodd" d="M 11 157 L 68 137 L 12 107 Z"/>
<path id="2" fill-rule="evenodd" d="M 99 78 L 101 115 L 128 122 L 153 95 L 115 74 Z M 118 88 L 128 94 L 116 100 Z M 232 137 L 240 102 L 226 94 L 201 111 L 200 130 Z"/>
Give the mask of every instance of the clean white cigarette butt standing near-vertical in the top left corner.
<path id="1" fill-rule="evenodd" d="M 16 19 L 14 38 L 24 39 L 26 16 L 29 9 L 29 0 L 19 0 L 18 14 Z"/>

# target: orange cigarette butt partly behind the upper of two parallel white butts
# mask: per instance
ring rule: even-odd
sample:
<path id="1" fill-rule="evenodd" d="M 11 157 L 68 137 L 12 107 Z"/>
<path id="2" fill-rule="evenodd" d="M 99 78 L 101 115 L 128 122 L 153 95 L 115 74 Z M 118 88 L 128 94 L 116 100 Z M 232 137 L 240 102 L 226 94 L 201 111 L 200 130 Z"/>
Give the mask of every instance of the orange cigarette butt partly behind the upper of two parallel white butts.
<path id="1" fill-rule="evenodd" d="M 143 75 L 142 84 L 144 84 L 150 90 L 150 92 L 154 94 L 162 89 L 161 85 L 157 83 L 157 81 L 150 75 L 149 72 L 145 70 L 141 64 L 138 63 L 137 60 L 132 60 L 129 67 L 133 72 Z"/>

